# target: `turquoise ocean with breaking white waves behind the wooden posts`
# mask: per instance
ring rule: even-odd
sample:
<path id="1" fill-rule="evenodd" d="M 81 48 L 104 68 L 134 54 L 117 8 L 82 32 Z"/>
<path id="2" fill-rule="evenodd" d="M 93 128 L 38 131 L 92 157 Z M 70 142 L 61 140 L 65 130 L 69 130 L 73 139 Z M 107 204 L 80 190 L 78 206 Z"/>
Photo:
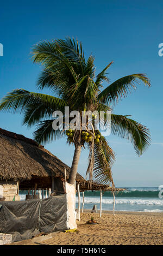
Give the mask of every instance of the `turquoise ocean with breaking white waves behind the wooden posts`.
<path id="1" fill-rule="evenodd" d="M 116 192 L 115 211 L 136 211 L 136 212 L 163 212 L 163 198 L 159 198 L 158 187 L 128 187 L 126 191 Z M 20 190 L 21 200 L 25 200 L 27 191 Z M 99 210 L 99 191 L 84 192 L 84 209 L 92 209 L 97 205 Z M 163 193 L 162 193 L 163 194 Z M 81 195 L 81 207 L 83 196 Z M 111 192 L 104 192 L 102 197 L 102 209 L 112 211 L 113 197 Z M 78 207 L 78 195 L 76 194 L 76 208 Z"/>

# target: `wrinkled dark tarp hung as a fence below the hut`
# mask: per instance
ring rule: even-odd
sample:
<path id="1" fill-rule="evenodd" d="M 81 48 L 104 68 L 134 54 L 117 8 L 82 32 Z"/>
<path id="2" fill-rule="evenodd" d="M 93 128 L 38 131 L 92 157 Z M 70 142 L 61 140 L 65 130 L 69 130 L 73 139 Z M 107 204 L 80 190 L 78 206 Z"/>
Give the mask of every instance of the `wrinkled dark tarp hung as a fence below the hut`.
<path id="1" fill-rule="evenodd" d="M 12 234 L 12 242 L 30 239 L 40 232 L 68 229 L 66 194 L 0 204 L 0 233 Z"/>

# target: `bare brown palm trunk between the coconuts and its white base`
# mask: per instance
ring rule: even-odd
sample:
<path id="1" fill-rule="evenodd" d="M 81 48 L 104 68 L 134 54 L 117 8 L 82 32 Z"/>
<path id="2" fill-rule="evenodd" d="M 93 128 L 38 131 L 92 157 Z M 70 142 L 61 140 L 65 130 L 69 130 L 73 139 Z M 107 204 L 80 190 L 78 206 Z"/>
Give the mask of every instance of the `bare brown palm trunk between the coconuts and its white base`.
<path id="1" fill-rule="evenodd" d="M 68 183 L 70 183 L 72 185 L 74 185 L 74 183 L 76 181 L 81 148 L 82 148 L 81 145 L 76 145 L 76 148 L 74 150 L 74 155 L 73 155 L 73 161 L 72 161 L 72 165 L 71 165 L 70 176 L 68 178 Z"/>

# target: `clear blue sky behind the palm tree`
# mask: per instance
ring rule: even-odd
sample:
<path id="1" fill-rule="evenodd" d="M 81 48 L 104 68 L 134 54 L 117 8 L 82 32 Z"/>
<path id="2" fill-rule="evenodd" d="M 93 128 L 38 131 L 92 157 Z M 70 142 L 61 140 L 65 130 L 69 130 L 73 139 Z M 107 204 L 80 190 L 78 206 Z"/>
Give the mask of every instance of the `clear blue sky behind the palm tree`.
<path id="1" fill-rule="evenodd" d="M 116 186 L 159 186 L 163 184 L 163 1 L 3 1 L 0 6 L 0 98 L 15 88 L 36 92 L 40 67 L 29 59 L 31 47 L 40 40 L 78 38 L 85 56 L 95 56 L 96 74 L 109 62 L 111 82 L 122 76 L 146 73 L 151 88 L 137 90 L 119 102 L 115 114 L 132 118 L 151 131 L 152 144 L 138 157 L 129 141 L 110 135 L 116 153 L 112 168 Z M 104 87 L 106 84 L 103 84 Z M 44 91 L 51 94 L 51 92 Z M 0 112 L 0 127 L 32 138 L 34 128 L 22 127 L 22 116 Z M 71 166 L 74 148 L 66 140 L 45 146 Z M 78 172 L 85 176 L 88 152 L 82 152 Z"/>

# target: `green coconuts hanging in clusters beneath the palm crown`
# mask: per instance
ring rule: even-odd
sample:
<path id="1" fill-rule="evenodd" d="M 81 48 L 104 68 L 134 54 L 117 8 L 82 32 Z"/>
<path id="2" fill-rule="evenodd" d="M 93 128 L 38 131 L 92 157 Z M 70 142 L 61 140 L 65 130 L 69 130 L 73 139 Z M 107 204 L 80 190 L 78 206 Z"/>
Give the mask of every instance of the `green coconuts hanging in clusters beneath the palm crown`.
<path id="1" fill-rule="evenodd" d="M 73 136 L 74 136 L 74 130 L 72 130 L 72 129 L 67 130 L 66 131 L 66 135 L 68 137 L 67 139 L 72 141 L 73 140 Z M 94 135 L 96 136 L 95 143 L 98 144 L 99 143 L 99 138 L 101 136 L 99 134 L 96 134 L 96 133 L 94 133 Z M 91 142 L 92 139 L 93 139 L 93 136 L 90 135 L 88 132 L 85 132 L 84 130 L 82 130 L 81 139 L 85 140 L 86 142 Z"/>

